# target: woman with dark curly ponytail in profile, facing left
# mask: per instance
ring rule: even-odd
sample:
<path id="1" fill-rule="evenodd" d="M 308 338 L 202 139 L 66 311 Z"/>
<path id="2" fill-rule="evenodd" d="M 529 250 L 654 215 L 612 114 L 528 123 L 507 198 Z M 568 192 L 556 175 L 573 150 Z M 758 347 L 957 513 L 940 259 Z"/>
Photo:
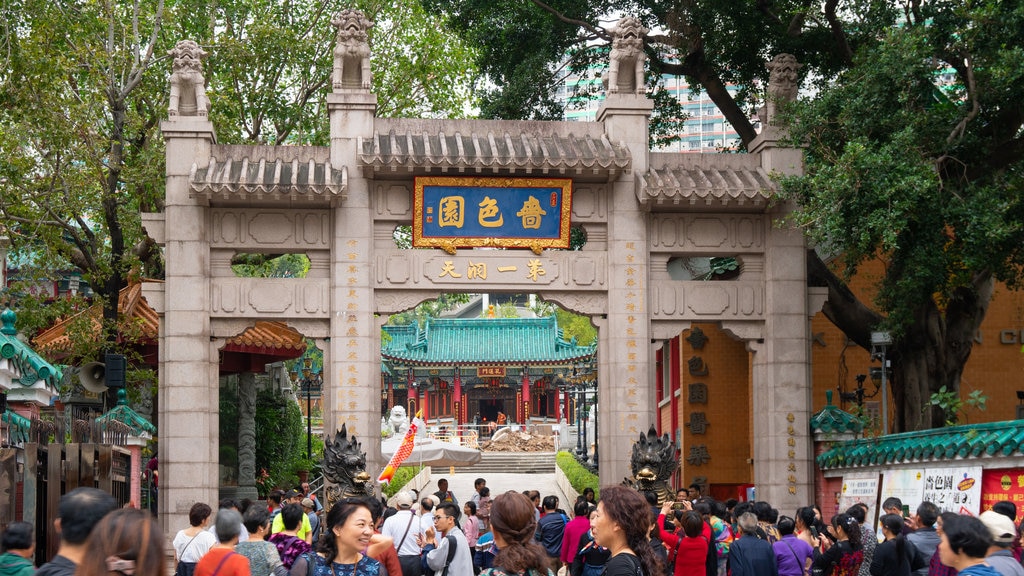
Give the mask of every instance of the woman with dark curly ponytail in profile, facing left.
<path id="1" fill-rule="evenodd" d="M 662 561 L 647 541 L 652 522 L 647 500 L 636 490 L 625 486 L 601 489 L 601 501 L 590 525 L 594 541 L 611 552 L 604 576 L 664 573 Z"/>

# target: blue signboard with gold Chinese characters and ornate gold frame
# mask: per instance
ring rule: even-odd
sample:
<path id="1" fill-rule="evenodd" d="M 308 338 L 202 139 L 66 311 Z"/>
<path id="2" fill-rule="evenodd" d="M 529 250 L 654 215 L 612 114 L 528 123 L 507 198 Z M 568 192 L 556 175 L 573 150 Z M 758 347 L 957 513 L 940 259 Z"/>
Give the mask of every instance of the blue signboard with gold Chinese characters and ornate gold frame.
<path id="1" fill-rule="evenodd" d="M 413 246 L 569 247 L 572 180 L 420 176 L 413 193 Z"/>

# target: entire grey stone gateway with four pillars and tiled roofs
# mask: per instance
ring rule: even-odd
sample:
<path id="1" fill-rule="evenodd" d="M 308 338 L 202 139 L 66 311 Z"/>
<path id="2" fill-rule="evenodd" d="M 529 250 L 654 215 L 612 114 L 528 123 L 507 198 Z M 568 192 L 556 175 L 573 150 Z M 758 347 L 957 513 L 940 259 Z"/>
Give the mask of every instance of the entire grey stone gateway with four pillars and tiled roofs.
<path id="1" fill-rule="evenodd" d="M 804 429 L 786 430 L 787 417 L 810 416 L 806 246 L 799 231 L 774 224 L 787 207 L 768 202 L 769 174 L 799 173 L 802 156 L 779 146 L 773 119 L 750 154 L 651 153 L 653 102 L 635 68 L 642 58 L 623 51 L 613 53 L 621 58 L 615 89 L 596 122 L 376 118 L 361 55 L 372 23 L 354 10 L 334 23 L 329 147 L 218 145 L 199 113 L 205 101 L 183 99 L 199 97 L 195 90 L 178 91 L 177 114 L 162 125 L 165 211 L 143 221 L 167 261 L 166 282 L 146 292 L 163 315 L 164 525 L 183 525 L 193 502 L 216 499 L 217 351 L 224 338 L 260 319 L 316 339 L 325 351 L 325 429 L 345 424 L 373 470 L 384 464 L 371 441 L 381 418 L 381 325 L 442 292 L 531 292 L 592 319 L 599 329 L 602 484 L 629 475 L 633 443 L 655 422 L 652 343 L 691 322 L 718 322 L 753 354 L 746 417 L 755 422 L 759 498 L 783 508 L 809 501 L 810 439 Z M 642 34 L 628 22 L 615 30 L 631 35 L 624 49 Z M 568 180 L 566 210 L 588 242 L 579 251 L 396 248 L 395 227 L 417 217 L 417 179 L 452 177 L 499 178 L 508 187 Z M 506 223 L 519 217 L 507 214 Z M 237 252 L 301 252 L 309 274 L 236 278 L 229 262 Z M 673 258 L 723 255 L 743 261 L 734 280 L 677 281 L 668 271 Z"/>

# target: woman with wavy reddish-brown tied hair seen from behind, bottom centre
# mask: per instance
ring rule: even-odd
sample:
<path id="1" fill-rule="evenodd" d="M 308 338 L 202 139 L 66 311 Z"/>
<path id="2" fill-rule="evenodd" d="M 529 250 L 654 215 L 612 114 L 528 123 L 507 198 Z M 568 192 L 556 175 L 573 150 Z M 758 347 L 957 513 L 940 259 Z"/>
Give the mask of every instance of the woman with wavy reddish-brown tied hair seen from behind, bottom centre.
<path id="1" fill-rule="evenodd" d="M 534 502 L 518 492 L 497 496 L 490 504 L 490 531 L 498 546 L 494 565 L 480 576 L 551 576 L 548 554 L 534 540 Z"/>

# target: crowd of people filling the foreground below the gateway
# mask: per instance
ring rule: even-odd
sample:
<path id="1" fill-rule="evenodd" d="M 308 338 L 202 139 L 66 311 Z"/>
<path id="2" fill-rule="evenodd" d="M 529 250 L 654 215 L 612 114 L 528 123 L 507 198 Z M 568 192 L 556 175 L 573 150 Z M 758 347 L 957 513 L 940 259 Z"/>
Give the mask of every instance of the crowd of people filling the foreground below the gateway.
<path id="1" fill-rule="evenodd" d="M 461 506 L 447 482 L 393 506 L 346 498 L 325 515 L 308 485 L 268 504 L 199 502 L 173 538 L 175 576 L 1024 576 L 1017 508 L 980 517 L 913 515 L 883 502 L 879 529 L 855 504 L 828 522 L 810 505 L 785 516 L 767 502 L 720 502 L 699 486 L 658 502 L 626 486 L 570 506 L 534 490 L 490 496 L 484 479 Z M 33 526 L 2 536 L 0 576 L 165 576 L 164 537 L 151 513 L 116 509 L 78 488 L 59 502 L 56 556 L 35 569 Z"/>

